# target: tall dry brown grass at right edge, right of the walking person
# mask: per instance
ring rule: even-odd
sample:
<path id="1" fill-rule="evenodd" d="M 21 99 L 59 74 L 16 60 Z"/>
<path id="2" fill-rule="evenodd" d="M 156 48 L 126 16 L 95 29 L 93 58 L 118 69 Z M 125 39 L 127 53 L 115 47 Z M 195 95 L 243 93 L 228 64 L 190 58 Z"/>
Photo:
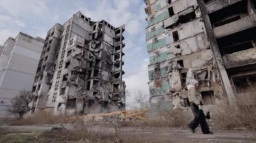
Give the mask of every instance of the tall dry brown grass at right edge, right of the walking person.
<path id="1" fill-rule="evenodd" d="M 237 99 L 235 105 L 217 105 L 214 118 L 216 128 L 256 130 L 256 96 Z"/>

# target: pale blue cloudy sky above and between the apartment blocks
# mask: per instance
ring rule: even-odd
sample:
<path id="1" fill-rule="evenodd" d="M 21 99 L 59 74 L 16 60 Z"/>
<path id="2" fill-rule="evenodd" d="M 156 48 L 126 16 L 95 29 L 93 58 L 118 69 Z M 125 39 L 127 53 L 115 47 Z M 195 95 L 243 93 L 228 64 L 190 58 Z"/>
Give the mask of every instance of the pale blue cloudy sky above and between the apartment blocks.
<path id="1" fill-rule="evenodd" d="M 0 45 L 19 32 L 45 38 L 55 23 L 64 23 L 77 11 L 92 21 L 106 19 L 115 27 L 125 24 L 123 80 L 131 106 L 135 92 L 149 94 L 145 7 L 143 0 L 0 0 Z"/>

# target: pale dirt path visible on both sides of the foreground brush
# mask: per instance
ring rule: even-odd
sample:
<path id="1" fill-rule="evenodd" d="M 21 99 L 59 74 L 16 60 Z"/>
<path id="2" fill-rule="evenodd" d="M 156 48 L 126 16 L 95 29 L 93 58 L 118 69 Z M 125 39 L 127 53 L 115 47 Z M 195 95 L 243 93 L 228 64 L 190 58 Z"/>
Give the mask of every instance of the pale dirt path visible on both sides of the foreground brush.
<path id="1" fill-rule="evenodd" d="M 45 132 L 52 126 L 2 126 L 5 130 L 17 132 Z M 98 127 L 97 127 L 98 128 Z M 109 129 L 115 132 L 115 129 Z M 256 132 L 238 130 L 213 130 L 214 134 L 201 134 L 198 128 L 195 134 L 182 128 L 121 128 L 121 136 L 137 138 L 146 142 L 256 142 Z"/>

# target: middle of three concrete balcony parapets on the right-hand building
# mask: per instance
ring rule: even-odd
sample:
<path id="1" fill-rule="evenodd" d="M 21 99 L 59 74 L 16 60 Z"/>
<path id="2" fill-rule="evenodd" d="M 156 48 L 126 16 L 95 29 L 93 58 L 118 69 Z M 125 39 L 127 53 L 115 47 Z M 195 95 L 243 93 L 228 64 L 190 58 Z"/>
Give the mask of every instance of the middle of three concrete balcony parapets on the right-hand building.
<path id="1" fill-rule="evenodd" d="M 236 32 L 247 30 L 253 26 L 256 26 L 256 14 L 216 27 L 214 28 L 214 34 L 216 38 L 221 38 Z"/>

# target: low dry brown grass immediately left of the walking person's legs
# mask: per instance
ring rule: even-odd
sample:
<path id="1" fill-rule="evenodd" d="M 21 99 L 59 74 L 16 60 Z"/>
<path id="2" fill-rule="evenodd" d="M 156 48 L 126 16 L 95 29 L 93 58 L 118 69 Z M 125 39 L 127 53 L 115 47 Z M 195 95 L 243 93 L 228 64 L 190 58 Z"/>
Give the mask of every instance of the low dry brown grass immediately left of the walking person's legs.
<path id="1" fill-rule="evenodd" d="M 146 115 L 146 120 L 119 122 L 120 126 L 133 127 L 184 127 L 193 116 L 186 109 L 173 109 Z"/>

